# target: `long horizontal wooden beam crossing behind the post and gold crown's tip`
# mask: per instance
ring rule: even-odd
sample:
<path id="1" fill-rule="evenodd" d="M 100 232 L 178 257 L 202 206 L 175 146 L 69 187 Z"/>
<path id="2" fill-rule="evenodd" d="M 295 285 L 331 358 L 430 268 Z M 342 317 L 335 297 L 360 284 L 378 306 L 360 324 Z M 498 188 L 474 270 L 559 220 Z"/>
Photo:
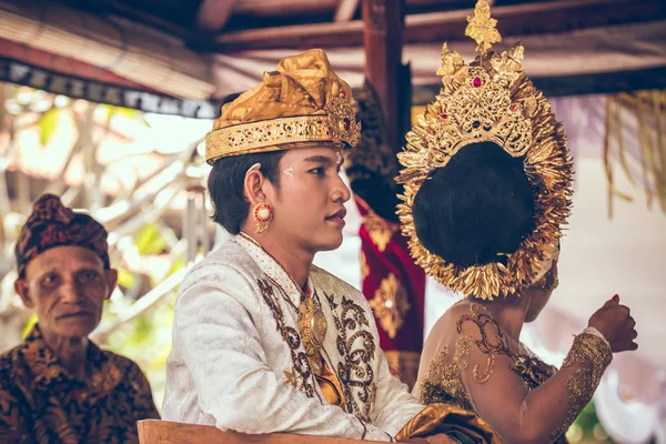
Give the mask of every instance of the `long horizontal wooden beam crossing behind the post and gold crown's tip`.
<path id="1" fill-rule="evenodd" d="M 465 39 L 472 10 L 407 16 L 405 43 Z M 608 24 L 666 19 L 663 0 L 562 0 L 493 8 L 504 37 L 555 33 Z M 363 44 L 363 22 L 331 22 L 229 32 L 210 50 L 230 52 L 275 48 L 345 48 Z"/>

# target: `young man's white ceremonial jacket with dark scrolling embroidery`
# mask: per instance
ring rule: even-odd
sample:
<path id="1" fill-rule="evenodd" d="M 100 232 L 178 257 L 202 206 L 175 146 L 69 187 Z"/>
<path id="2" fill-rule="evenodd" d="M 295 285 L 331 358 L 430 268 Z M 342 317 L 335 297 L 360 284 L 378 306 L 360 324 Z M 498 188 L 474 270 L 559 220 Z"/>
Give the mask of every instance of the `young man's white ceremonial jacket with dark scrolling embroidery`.
<path id="1" fill-rule="evenodd" d="M 393 441 L 424 406 L 389 372 L 363 294 L 315 266 L 309 282 L 329 323 L 322 354 L 340 379 L 344 410 L 326 403 L 310 370 L 296 284 L 259 245 L 233 236 L 180 287 L 162 418 Z"/>

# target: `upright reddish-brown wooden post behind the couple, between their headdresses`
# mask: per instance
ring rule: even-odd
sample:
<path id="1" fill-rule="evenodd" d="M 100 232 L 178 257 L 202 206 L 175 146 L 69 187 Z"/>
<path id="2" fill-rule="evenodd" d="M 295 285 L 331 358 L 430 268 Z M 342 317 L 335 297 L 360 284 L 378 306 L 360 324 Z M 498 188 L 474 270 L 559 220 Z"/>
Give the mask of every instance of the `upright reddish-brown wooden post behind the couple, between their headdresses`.
<path id="1" fill-rule="evenodd" d="M 410 125 L 410 67 L 402 64 L 404 0 L 363 0 L 365 77 L 382 103 L 389 144 L 396 152 Z"/>

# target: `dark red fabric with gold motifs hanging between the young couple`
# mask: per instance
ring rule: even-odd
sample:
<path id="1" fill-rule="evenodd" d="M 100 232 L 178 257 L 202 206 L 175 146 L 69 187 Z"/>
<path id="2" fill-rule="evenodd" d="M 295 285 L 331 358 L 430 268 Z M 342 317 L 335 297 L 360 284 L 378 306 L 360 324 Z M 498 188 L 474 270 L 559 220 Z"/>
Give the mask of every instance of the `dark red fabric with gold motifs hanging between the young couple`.
<path id="1" fill-rule="evenodd" d="M 387 330 L 382 326 L 382 320 L 377 317 L 377 312 L 373 310 L 380 332 L 380 346 L 384 351 L 420 353 L 423 347 L 425 273 L 410 255 L 406 239 L 400 232 L 400 224 L 379 218 L 359 196 L 355 196 L 355 201 L 363 216 L 360 230 L 361 251 L 365 255 L 370 272 L 363 278 L 363 294 L 369 301 L 373 301 L 377 290 L 382 286 L 382 281 L 393 273 L 404 287 L 410 304 L 410 309 L 404 313 L 404 323 L 396 331 L 395 337 L 390 336 Z M 385 224 L 382 228 L 389 228 L 392 233 L 383 251 L 372 235 L 372 232 L 376 231 L 377 220 Z"/>

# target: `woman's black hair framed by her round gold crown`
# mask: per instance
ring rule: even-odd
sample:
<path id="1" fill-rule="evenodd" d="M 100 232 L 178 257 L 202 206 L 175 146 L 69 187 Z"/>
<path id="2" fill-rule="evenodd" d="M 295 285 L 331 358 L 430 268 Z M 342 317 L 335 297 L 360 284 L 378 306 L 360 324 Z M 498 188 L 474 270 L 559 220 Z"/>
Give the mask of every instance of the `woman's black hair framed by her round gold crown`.
<path id="1" fill-rule="evenodd" d="M 493 142 L 473 143 L 436 169 L 414 199 L 421 243 L 461 266 L 506 264 L 534 229 L 535 192 L 523 159 Z"/>

